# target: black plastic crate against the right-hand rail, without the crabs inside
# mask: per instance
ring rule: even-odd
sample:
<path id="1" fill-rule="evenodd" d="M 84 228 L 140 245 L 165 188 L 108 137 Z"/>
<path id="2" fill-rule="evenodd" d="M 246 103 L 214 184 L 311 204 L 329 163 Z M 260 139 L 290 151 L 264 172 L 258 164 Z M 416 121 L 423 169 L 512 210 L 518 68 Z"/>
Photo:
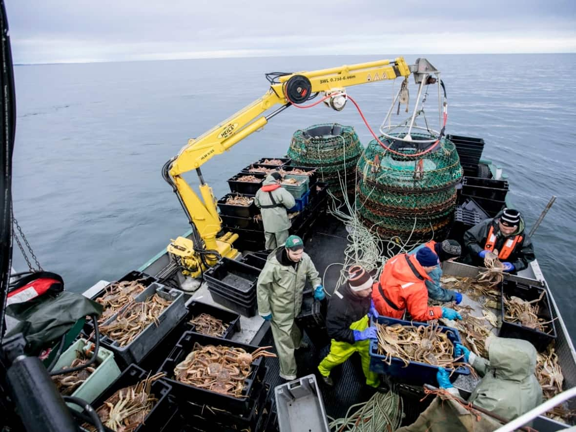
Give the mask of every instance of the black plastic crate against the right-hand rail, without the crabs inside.
<path id="1" fill-rule="evenodd" d="M 502 298 L 501 298 L 501 308 L 502 308 L 502 327 L 498 333 L 498 336 L 502 338 L 516 338 L 528 340 L 532 343 L 536 350 L 544 351 L 550 342 L 556 339 L 556 327 L 554 325 L 552 309 L 550 307 L 550 300 L 548 298 L 548 293 L 545 289 L 533 286 L 524 285 L 523 283 L 518 283 L 514 281 L 504 280 L 502 282 Z M 506 306 L 504 305 L 504 296 L 516 296 L 520 297 L 522 300 L 533 301 L 540 297 L 544 293 L 544 297 L 539 302 L 540 308 L 537 316 L 543 319 L 545 322 L 552 321 L 547 325 L 548 332 L 542 332 L 534 328 L 524 327 L 520 323 L 510 323 L 506 320 Z"/>

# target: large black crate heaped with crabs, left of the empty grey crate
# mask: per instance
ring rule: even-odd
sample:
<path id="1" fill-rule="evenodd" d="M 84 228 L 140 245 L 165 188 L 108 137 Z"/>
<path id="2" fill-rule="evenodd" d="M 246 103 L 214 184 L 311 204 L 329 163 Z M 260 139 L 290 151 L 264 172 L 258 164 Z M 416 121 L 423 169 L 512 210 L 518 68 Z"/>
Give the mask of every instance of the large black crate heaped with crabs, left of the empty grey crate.
<path id="1" fill-rule="evenodd" d="M 185 332 L 158 372 L 181 403 L 242 414 L 266 373 L 266 357 L 276 357 L 267 348 Z"/>

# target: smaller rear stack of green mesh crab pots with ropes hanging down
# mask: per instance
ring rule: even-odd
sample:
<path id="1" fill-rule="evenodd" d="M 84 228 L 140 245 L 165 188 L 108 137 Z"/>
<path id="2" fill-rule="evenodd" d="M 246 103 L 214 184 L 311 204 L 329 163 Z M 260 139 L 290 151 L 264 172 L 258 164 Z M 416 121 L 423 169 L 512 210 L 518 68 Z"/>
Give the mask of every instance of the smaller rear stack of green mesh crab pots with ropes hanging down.
<path id="1" fill-rule="evenodd" d="M 363 148 L 351 126 L 316 124 L 294 132 L 287 156 L 293 165 L 318 168 L 318 179 L 342 196 L 340 179 L 346 179 L 348 194 L 354 193 L 356 164 Z"/>

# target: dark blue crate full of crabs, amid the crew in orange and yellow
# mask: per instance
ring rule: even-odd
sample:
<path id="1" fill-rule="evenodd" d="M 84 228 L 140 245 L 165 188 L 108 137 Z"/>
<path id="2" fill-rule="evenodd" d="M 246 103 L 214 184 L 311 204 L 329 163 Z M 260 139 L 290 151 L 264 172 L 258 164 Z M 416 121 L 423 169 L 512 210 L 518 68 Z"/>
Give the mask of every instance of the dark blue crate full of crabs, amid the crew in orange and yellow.
<path id="1" fill-rule="evenodd" d="M 416 323 L 380 316 L 378 341 L 370 341 L 370 370 L 390 375 L 407 384 L 436 385 L 438 367 L 450 374 L 450 381 L 469 375 L 470 369 L 454 353 L 461 343 L 455 328 L 435 323 Z"/>

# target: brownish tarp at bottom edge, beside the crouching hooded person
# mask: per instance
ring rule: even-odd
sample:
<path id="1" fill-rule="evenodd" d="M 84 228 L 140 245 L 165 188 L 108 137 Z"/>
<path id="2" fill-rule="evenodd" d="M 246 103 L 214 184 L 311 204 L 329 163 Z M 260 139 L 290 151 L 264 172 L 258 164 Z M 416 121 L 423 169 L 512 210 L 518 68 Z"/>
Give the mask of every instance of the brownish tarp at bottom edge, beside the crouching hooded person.
<path id="1" fill-rule="evenodd" d="M 476 410 L 469 411 L 453 397 L 438 395 L 414 423 L 396 432 L 491 432 L 500 426 L 498 420 Z"/>

